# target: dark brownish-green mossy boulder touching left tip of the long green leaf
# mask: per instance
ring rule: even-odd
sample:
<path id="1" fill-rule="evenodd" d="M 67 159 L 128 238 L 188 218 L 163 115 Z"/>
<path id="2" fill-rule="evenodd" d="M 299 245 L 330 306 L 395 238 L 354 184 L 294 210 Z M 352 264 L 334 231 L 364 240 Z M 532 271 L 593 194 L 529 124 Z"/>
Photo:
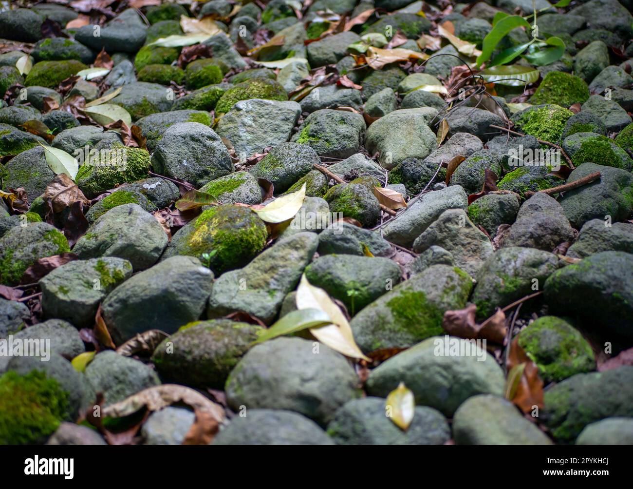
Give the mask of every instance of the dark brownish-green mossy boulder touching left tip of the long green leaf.
<path id="1" fill-rule="evenodd" d="M 261 326 L 229 319 L 190 322 L 156 346 L 152 362 L 168 381 L 222 389 L 260 331 Z"/>

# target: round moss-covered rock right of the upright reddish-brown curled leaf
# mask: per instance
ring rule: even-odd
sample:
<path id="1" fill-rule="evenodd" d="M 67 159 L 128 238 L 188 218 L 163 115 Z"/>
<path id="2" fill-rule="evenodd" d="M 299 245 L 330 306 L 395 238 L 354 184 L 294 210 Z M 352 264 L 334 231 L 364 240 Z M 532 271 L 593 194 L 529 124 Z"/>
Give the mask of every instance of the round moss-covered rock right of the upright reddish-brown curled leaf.
<path id="1" fill-rule="evenodd" d="M 536 363 L 546 384 L 596 368 L 591 345 L 560 317 L 539 317 L 518 334 L 518 344 Z"/>

